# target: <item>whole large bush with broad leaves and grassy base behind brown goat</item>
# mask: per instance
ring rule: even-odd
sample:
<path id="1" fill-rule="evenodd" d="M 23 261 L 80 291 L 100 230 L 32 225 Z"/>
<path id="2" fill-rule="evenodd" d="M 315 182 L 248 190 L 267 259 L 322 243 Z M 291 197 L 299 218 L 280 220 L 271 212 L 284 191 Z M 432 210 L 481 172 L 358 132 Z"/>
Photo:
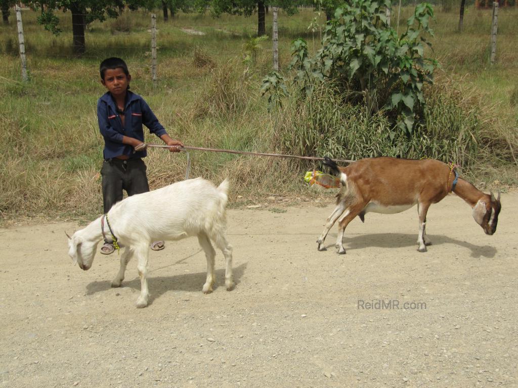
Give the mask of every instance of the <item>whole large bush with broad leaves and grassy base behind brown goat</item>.
<path id="1" fill-rule="evenodd" d="M 433 85 L 437 63 L 424 57 L 431 7 L 419 4 L 400 37 L 386 24 L 382 0 L 352 0 L 327 24 L 323 47 L 310 57 L 293 44 L 293 82 L 263 79 L 270 109 L 282 117 L 287 152 L 336 158 L 434 158 L 471 165 L 481 143 L 476 107 L 451 83 Z M 282 97 L 289 96 L 283 106 Z M 416 120 L 417 119 L 417 120 Z"/>

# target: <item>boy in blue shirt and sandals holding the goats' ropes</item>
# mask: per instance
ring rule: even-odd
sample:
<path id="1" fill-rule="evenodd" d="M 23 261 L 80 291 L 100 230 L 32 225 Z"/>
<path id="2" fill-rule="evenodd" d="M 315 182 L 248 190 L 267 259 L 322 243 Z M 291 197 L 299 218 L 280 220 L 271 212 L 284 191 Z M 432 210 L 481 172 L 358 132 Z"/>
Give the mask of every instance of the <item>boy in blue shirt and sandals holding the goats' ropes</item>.
<path id="1" fill-rule="evenodd" d="M 104 162 L 100 173 L 103 177 L 103 206 L 107 213 L 111 206 L 122 200 L 122 190 L 128 196 L 149 191 L 144 132 L 142 124 L 160 137 L 170 152 L 180 152 L 183 143 L 173 140 L 160 124 L 146 101 L 130 92 L 130 71 L 121 58 L 107 58 L 99 66 L 101 83 L 106 92 L 97 101 L 97 120 L 104 138 Z M 164 249 L 164 242 L 151 244 L 151 249 Z M 105 241 L 101 253 L 109 255 L 113 244 Z"/>

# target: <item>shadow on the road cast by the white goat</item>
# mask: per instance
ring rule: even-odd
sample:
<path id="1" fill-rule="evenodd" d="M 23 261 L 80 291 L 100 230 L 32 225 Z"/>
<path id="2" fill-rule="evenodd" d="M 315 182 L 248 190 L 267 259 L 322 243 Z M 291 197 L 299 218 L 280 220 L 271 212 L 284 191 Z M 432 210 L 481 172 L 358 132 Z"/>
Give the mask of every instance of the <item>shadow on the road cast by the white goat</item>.
<path id="1" fill-rule="evenodd" d="M 148 273 L 148 287 L 149 287 L 149 301 L 148 306 L 153 303 L 155 299 L 165 294 L 167 291 L 190 291 L 190 292 L 202 292 L 202 287 L 207 279 L 207 272 L 198 272 L 194 274 L 179 274 L 172 276 L 150 276 L 153 272 L 161 270 L 179 262 L 172 263 L 170 265 L 164 265 L 160 268 L 155 268 L 153 271 Z M 131 263 L 131 262 L 130 262 Z M 242 263 L 237 267 L 233 267 L 232 273 L 234 277 L 235 287 L 240 283 L 240 279 L 247 268 L 248 263 Z M 131 264 L 130 264 L 131 265 Z M 117 272 L 113 273 L 113 277 Z M 127 274 L 127 271 L 126 271 Z M 225 268 L 220 268 L 214 271 L 215 279 L 212 290 L 215 291 L 219 287 L 225 287 Z M 135 291 L 140 292 L 140 278 L 137 276 L 133 279 L 125 278 L 122 281 L 121 287 L 119 288 L 131 288 Z M 234 288 L 235 288 L 234 287 Z M 111 287 L 111 278 L 107 280 L 92 281 L 87 285 L 87 295 L 93 295 L 97 292 L 104 292 L 108 290 L 116 290 L 117 288 Z"/>

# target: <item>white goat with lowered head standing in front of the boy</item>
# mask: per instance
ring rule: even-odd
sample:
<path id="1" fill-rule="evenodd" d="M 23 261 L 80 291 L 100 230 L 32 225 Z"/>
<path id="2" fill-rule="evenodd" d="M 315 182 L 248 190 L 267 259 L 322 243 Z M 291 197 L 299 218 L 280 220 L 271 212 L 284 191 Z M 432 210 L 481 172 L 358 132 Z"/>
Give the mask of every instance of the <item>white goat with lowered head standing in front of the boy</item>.
<path id="1" fill-rule="evenodd" d="M 68 255 L 82 270 L 87 271 L 92 266 L 97 244 L 103 240 L 103 234 L 114 236 L 124 251 L 119 273 L 111 286 L 121 285 L 128 261 L 136 256 L 141 285 L 137 307 L 141 308 L 148 305 L 149 298 L 146 279 L 149 244 L 157 240 L 197 236 L 207 258 L 207 281 L 203 292 L 212 292 L 214 284 L 215 251 L 210 240 L 225 256 L 225 286 L 230 291 L 234 281 L 232 247 L 225 237 L 228 186 L 227 180 L 216 188 L 211 182 L 196 178 L 128 197 L 113 205 L 107 215 L 68 237 Z"/>

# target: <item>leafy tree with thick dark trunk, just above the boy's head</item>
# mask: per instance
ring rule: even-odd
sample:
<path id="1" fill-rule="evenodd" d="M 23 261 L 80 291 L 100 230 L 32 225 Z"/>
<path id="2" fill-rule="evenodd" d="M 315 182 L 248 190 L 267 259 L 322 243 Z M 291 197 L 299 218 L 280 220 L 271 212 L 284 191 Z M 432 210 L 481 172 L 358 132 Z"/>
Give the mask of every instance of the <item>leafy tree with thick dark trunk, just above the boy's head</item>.
<path id="1" fill-rule="evenodd" d="M 136 0 L 133 0 L 132 3 L 137 4 Z M 85 26 L 94 20 L 104 21 L 107 17 L 117 18 L 122 2 L 121 0 L 29 0 L 25 4 L 30 5 L 33 9 L 41 10 L 38 22 L 53 34 L 61 32 L 59 19 L 55 16 L 54 10 L 70 11 L 72 13 L 73 52 L 83 54 L 86 49 Z"/>

